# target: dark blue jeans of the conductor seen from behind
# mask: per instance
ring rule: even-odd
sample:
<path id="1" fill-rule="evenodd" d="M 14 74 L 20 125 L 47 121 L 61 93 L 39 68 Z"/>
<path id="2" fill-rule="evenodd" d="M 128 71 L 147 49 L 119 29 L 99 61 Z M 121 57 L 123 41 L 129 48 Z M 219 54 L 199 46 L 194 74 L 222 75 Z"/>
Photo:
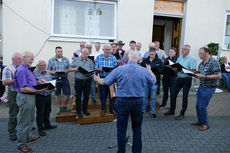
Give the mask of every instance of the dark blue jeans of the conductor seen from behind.
<path id="1" fill-rule="evenodd" d="M 132 130 L 133 130 L 133 153 L 141 153 L 141 124 L 143 120 L 142 115 L 143 98 L 139 99 L 124 99 L 117 98 L 117 153 L 125 153 L 126 145 L 126 131 L 128 126 L 129 115 L 131 116 Z"/>

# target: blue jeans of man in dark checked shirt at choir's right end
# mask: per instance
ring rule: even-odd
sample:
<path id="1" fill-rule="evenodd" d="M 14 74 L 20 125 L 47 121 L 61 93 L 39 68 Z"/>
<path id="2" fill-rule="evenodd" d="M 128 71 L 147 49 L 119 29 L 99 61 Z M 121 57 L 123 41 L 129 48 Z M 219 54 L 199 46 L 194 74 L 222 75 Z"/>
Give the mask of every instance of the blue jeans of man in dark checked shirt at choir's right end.
<path id="1" fill-rule="evenodd" d="M 206 88 L 202 86 L 199 86 L 199 89 L 197 90 L 196 113 L 198 122 L 202 125 L 209 126 L 207 107 L 212 95 L 215 93 L 215 90 L 216 88 Z"/>

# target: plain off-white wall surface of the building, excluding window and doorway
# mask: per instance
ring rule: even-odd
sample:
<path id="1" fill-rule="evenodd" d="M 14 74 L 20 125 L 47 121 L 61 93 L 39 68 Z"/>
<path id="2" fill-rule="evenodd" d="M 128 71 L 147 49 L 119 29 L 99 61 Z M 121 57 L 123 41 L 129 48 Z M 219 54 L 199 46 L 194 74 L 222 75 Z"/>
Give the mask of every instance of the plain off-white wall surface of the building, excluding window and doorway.
<path id="1" fill-rule="evenodd" d="M 7 0 L 5 3 L 26 20 L 42 31 L 49 33 L 50 0 Z M 222 45 L 226 10 L 230 10 L 229 0 L 187 0 L 185 29 L 182 43 L 192 46 L 191 55 L 198 57 L 198 49 L 210 42 Z M 142 50 L 148 49 L 152 40 L 154 0 L 118 0 L 118 40 L 123 40 L 129 48 L 129 41 L 142 42 Z M 48 38 L 32 27 L 3 4 L 3 57 L 4 64 L 11 62 L 13 52 L 29 50 L 36 55 Z M 182 45 L 182 44 L 181 44 Z M 54 56 L 54 48 L 62 46 L 64 56 L 71 58 L 78 42 L 48 41 L 40 54 L 35 58 L 48 61 Z M 230 59 L 230 51 L 223 51 Z"/>

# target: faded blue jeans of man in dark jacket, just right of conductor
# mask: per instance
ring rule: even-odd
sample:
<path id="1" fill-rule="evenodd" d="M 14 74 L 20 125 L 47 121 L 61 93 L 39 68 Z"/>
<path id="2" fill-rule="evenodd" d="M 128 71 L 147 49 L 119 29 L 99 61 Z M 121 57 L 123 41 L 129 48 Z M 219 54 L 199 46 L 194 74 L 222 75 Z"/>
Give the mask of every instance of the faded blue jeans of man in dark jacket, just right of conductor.
<path id="1" fill-rule="evenodd" d="M 150 96 L 150 113 L 155 114 L 156 113 L 156 96 L 157 96 L 157 84 L 153 86 L 145 86 L 144 90 L 144 99 L 143 99 L 143 106 L 142 106 L 142 112 L 146 111 L 146 106 L 148 104 L 148 98 Z"/>

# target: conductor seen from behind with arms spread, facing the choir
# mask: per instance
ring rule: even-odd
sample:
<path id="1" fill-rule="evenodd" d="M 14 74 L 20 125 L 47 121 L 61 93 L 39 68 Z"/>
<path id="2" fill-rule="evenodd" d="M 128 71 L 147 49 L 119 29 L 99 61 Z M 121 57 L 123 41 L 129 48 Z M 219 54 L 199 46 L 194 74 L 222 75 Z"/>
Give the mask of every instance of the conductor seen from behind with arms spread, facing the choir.
<path id="1" fill-rule="evenodd" d="M 156 79 L 149 65 L 147 65 L 146 69 L 137 64 L 139 60 L 138 52 L 129 52 L 128 56 L 128 64 L 116 68 L 104 79 L 101 79 L 99 76 L 94 76 L 94 79 L 99 84 L 109 86 L 117 82 L 117 153 L 125 153 L 129 114 L 133 129 L 132 152 L 141 153 L 144 87 L 146 85 L 154 85 Z"/>

